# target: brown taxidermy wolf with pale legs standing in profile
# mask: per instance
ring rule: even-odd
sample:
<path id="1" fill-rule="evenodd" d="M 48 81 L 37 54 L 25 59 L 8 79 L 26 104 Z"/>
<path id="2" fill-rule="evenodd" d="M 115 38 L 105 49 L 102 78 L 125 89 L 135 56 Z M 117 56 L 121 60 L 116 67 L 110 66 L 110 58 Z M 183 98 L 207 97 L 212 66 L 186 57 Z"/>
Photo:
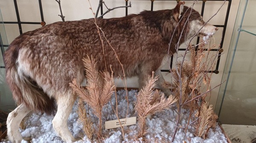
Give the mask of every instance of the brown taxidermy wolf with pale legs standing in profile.
<path id="1" fill-rule="evenodd" d="M 184 2 L 171 10 L 96 19 L 96 24 L 113 46 L 126 77 L 139 76 L 139 85 L 143 87 L 154 71 L 160 77 L 157 81 L 160 89 L 166 94 L 171 92 L 162 87 L 160 69 L 167 61 L 171 38 L 170 54 L 175 53 L 178 40 L 183 43 L 196 34 L 212 35 L 218 30 L 205 24 L 198 11 L 184 6 Z M 96 24 L 94 18 L 55 22 L 26 32 L 10 44 L 4 55 L 6 81 L 19 105 L 7 119 L 10 141 L 21 142 L 19 124 L 29 112 L 52 113 L 55 104 L 57 112 L 52 120 L 55 132 L 64 142 L 75 141 L 67 127 L 76 100 L 69 83 L 76 79 L 81 84 L 84 80 L 82 58 L 91 55 L 97 60 L 99 70 L 106 70 L 107 65 L 111 71 L 111 64 L 114 76 L 123 75 L 108 41 L 100 40 Z"/>

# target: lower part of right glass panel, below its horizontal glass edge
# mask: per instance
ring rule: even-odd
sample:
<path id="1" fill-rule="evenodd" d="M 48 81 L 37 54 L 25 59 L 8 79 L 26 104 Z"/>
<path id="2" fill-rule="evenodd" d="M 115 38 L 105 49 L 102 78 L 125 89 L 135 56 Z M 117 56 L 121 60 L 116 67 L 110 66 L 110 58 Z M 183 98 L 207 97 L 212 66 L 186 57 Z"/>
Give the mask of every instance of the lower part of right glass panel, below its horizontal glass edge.
<path id="1" fill-rule="evenodd" d="M 239 41 L 254 44 L 256 36 L 241 33 Z M 244 40 L 244 41 L 246 41 Z M 219 120 L 225 124 L 256 125 L 256 48 L 238 42 Z"/>

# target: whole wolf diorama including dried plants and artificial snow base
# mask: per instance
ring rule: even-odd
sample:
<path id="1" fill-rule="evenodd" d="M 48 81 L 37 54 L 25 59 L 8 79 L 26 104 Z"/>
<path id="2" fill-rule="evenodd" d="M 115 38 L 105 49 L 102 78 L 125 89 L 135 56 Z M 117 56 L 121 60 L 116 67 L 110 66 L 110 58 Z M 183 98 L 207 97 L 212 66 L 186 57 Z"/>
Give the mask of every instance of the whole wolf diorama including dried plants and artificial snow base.
<path id="1" fill-rule="evenodd" d="M 220 49 L 211 39 L 218 28 L 204 22 L 195 3 L 184 4 L 110 19 L 64 22 L 61 14 L 63 22 L 18 36 L 4 56 L 18 107 L 1 143 L 227 143 L 205 101 L 215 88 L 208 72 L 219 53 L 209 51 Z M 195 36 L 198 45 L 190 44 Z M 184 43 L 166 82 L 161 69 Z M 139 91 L 126 88 L 133 76 Z M 125 90 L 116 90 L 117 77 Z M 130 117 L 137 123 L 126 126 Z M 104 129 L 111 120 L 123 126 Z"/>

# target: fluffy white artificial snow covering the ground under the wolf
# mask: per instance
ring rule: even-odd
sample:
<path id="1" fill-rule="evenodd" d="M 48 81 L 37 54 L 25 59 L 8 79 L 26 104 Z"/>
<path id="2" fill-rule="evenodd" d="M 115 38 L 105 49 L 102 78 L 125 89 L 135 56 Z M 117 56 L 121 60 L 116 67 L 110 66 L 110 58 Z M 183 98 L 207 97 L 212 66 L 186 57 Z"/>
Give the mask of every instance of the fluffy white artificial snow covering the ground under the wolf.
<path id="1" fill-rule="evenodd" d="M 127 112 L 127 101 L 125 99 L 126 91 L 117 91 L 117 101 L 118 101 L 118 116 L 119 118 L 125 118 Z M 128 117 L 136 116 L 134 112 L 134 101 L 136 101 L 137 90 L 128 91 Z M 115 95 L 111 98 L 112 105 L 116 107 Z M 88 106 L 85 105 L 87 108 Z M 116 120 L 117 117 L 113 112 L 111 104 L 105 105 L 102 111 L 102 120 L 105 121 Z M 91 109 L 89 110 L 89 116 L 91 121 L 94 123 L 94 127 L 97 129 L 98 118 L 93 115 Z M 127 117 L 127 118 L 128 118 Z M 170 142 L 172 140 L 172 135 L 175 129 L 175 118 L 177 113 L 173 109 L 165 110 L 164 112 L 157 113 L 146 119 L 147 134 L 145 135 L 145 140 L 149 143 L 163 143 Z M 46 115 L 41 113 L 32 113 L 26 117 L 26 129 L 20 129 L 23 139 L 22 143 L 63 143 L 60 137 L 54 132 L 52 128 L 52 119 L 54 116 Z M 183 109 L 182 119 L 180 120 L 179 128 L 175 136 L 173 143 L 227 143 L 225 135 L 222 133 L 221 128 L 217 125 L 215 129 L 209 129 L 206 139 L 195 136 L 196 128 L 193 124 L 188 126 L 187 132 L 185 132 L 186 125 L 188 124 L 187 119 L 189 118 L 189 110 Z M 192 122 L 192 121 L 190 121 Z M 96 143 L 97 140 L 94 136 L 93 140 L 89 140 L 84 132 L 82 131 L 82 124 L 78 120 L 77 114 L 77 102 L 75 103 L 72 113 L 68 119 L 68 127 L 71 133 L 74 135 L 78 141 L 75 143 Z M 104 128 L 104 125 L 103 125 Z M 102 135 L 104 138 L 104 143 L 143 143 L 142 139 L 137 139 L 136 135 L 139 130 L 137 125 L 125 126 L 124 133 L 125 139 L 122 139 L 121 128 L 102 130 Z M 0 143 L 11 143 L 8 139 L 1 140 Z"/>

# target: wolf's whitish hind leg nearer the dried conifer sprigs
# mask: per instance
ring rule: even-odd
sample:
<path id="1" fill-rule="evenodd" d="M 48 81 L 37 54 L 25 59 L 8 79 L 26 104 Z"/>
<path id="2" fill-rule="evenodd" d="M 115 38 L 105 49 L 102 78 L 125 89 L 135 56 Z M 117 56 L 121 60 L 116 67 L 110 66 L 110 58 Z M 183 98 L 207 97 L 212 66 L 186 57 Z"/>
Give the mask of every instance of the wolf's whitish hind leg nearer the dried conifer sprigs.
<path id="1" fill-rule="evenodd" d="M 64 95 L 58 95 L 56 98 L 58 108 L 57 113 L 52 120 L 52 126 L 56 134 L 66 143 L 73 143 L 76 141 L 67 127 L 67 120 L 75 100 L 76 95 L 71 91 Z"/>

